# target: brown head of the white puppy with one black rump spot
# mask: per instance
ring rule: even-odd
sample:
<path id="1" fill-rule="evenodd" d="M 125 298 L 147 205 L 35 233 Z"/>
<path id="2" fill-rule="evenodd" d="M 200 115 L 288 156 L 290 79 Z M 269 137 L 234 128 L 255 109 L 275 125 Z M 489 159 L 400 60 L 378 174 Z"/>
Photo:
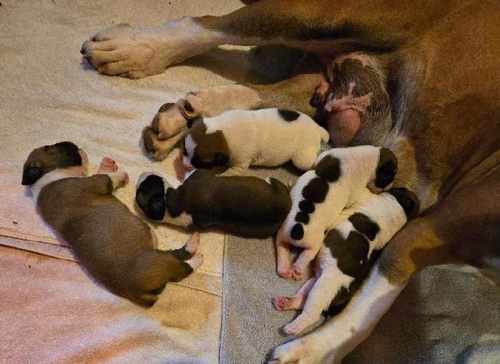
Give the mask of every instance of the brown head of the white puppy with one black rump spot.
<path id="1" fill-rule="evenodd" d="M 203 118 L 193 119 L 184 140 L 183 164 L 187 169 L 227 165 L 230 151 L 222 131 L 207 133 Z"/>

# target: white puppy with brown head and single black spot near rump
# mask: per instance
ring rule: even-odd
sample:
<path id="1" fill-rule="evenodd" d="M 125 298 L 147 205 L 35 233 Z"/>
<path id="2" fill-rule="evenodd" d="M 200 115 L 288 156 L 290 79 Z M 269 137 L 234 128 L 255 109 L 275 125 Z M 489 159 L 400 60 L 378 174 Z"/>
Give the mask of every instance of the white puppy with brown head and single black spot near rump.
<path id="1" fill-rule="evenodd" d="M 312 168 L 328 132 L 309 116 L 279 109 L 231 110 L 188 120 L 184 167 L 228 166 L 225 175 L 242 175 L 250 165 L 275 167 L 289 160 Z"/>

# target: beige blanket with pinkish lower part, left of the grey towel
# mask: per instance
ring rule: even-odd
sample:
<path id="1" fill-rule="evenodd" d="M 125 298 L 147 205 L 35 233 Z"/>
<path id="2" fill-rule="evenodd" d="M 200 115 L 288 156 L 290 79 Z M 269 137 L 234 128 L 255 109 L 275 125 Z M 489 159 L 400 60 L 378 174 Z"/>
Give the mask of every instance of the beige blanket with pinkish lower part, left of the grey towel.
<path id="1" fill-rule="evenodd" d="M 71 262 L 69 249 L 37 216 L 20 176 L 33 148 L 73 141 L 87 151 L 93 170 L 109 155 L 129 172 L 131 184 L 117 196 L 135 210 L 141 172 L 174 175 L 174 155 L 160 164 L 144 155 L 143 126 L 162 103 L 190 90 L 242 81 L 244 55 L 216 50 L 191 65 L 131 81 L 97 74 L 79 54 L 82 42 L 111 23 L 154 26 L 239 6 L 237 0 L 1 0 L 0 244 L 29 252 L 0 247 L 0 362 L 217 360 L 223 235 L 202 234 L 201 269 L 169 284 L 158 303 L 143 310 L 97 286 Z M 154 229 L 165 249 L 189 236 L 165 225 Z"/>

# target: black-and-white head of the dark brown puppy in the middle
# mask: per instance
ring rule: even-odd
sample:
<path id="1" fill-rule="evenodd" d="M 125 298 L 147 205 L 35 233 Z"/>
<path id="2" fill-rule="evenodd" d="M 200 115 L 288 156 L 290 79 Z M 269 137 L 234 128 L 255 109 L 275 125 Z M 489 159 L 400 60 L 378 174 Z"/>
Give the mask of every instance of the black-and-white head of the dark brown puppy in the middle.
<path id="1" fill-rule="evenodd" d="M 143 172 L 139 176 L 136 203 L 151 220 L 165 221 L 169 216 L 167 201 L 174 187 L 165 178 L 154 172 Z"/>

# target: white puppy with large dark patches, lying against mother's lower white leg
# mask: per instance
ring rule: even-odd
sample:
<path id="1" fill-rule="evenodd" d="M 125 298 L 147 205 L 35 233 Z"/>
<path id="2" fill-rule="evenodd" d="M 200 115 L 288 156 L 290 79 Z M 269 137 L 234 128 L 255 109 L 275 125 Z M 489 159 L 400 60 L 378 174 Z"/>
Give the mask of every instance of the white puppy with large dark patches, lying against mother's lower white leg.
<path id="1" fill-rule="evenodd" d="M 417 196 L 405 188 L 364 197 L 340 213 L 316 257 L 316 276 L 294 297 L 273 299 L 276 310 L 302 313 L 282 329 L 296 335 L 314 324 L 323 311 L 338 312 L 367 276 L 383 247 L 419 211 Z"/>

